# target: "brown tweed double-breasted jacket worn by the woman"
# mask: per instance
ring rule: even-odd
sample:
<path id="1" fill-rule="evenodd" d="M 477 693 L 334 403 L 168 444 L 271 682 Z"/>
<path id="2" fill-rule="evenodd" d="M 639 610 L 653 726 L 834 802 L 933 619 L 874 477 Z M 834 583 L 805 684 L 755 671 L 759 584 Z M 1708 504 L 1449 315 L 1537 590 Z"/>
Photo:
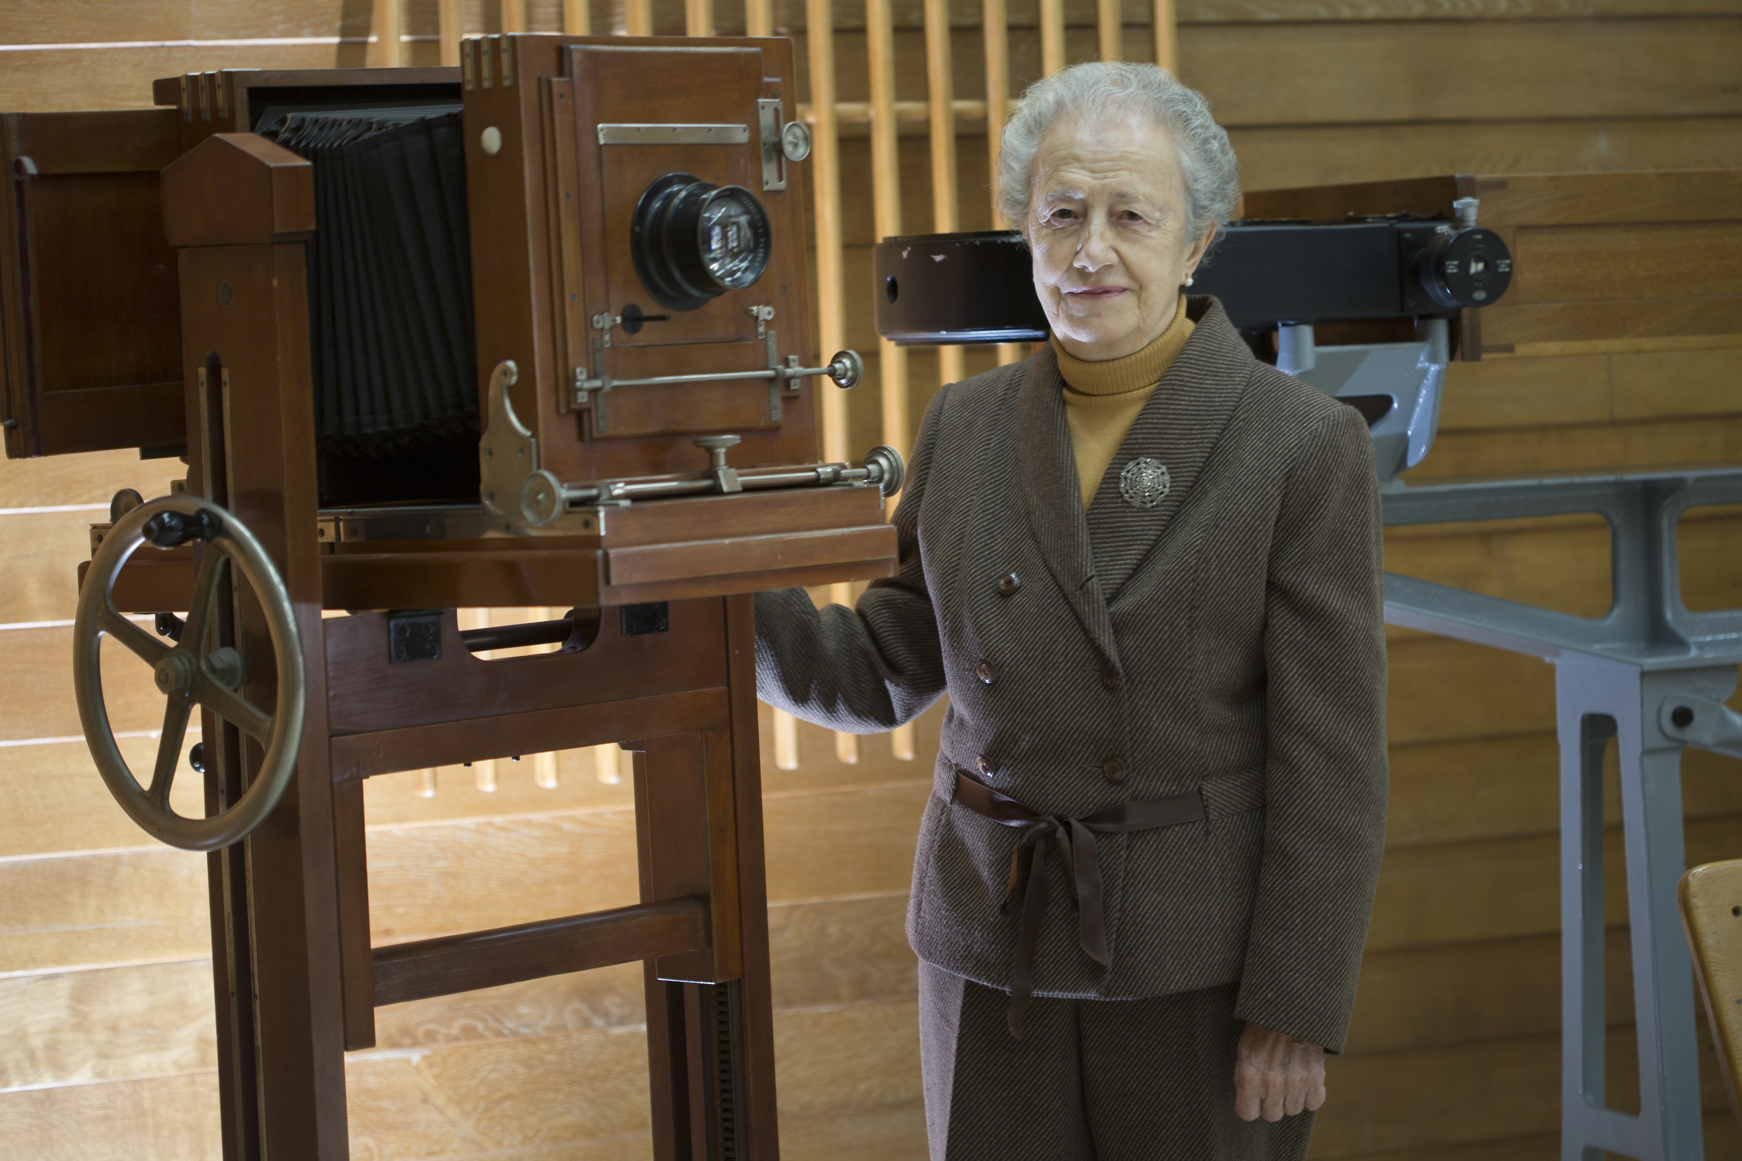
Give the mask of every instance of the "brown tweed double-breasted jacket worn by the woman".
<path id="1" fill-rule="evenodd" d="M 993 987 L 1010 987 L 1019 836 L 951 801 L 958 769 L 1075 818 L 1202 787 L 1205 822 L 1101 836 L 1106 968 L 1049 860 L 1035 994 L 1239 980 L 1239 1018 L 1336 1051 L 1385 837 L 1373 453 L 1354 409 L 1252 359 L 1216 299 L 1188 312 L 1087 513 L 1050 352 L 941 390 L 895 512 L 899 574 L 857 611 L 758 595 L 758 691 L 857 733 L 949 693 L 908 936 Z M 1120 494 L 1136 456 L 1171 475 L 1153 508 Z"/>

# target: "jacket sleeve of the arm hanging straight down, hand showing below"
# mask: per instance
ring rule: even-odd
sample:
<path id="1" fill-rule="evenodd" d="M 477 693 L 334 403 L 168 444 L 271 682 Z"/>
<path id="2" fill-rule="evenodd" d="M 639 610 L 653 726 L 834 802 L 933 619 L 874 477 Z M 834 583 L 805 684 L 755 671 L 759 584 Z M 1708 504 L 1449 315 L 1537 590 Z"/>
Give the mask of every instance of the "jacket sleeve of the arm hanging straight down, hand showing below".
<path id="1" fill-rule="evenodd" d="M 1385 849 L 1385 588 L 1352 407 L 1289 472 L 1265 594 L 1265 846 L 1235 1017 L 1341 1051 Z"/>

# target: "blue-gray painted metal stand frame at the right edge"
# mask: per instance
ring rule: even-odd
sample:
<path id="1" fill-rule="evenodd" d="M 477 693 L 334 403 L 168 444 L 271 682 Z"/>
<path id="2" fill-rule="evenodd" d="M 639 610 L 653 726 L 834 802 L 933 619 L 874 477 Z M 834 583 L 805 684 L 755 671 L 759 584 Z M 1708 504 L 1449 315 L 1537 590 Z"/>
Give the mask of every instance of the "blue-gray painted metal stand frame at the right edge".
<path id="1" fill-rule="evenodd" d="M 1693 966 L 1676 914 L 1686 870 L 1681 750 L 1742 757 L 1723 705 L 1742 665 L 1742 609 L 1681 604 L 1676 527 L 1700 505 L 1742 503 L 1742 470 L 1402 487 L 1385 524 L 1596 512 L 1613 536 L 1610 611 L 1597 620 L 1385 574 L 1394 625 L 1540 656 L 1556 667 L 1561 740 L 1561 1158 L 1603 1151 L 1698 1161 Z M 1639 1034 L 1639 1116 L 1604 1098 L 1603 754 L 1620 755 L 1622 832 Z"/>

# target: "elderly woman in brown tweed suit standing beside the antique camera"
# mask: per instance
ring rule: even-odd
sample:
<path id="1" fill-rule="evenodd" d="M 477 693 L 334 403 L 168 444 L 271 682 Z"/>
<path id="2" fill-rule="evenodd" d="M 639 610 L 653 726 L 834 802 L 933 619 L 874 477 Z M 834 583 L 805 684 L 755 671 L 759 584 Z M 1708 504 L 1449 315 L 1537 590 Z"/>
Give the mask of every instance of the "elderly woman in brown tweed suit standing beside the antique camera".
<path id="1" fill-rule="evenodd" d="M 859 733 L 949 695 L 908 912 L 934 1159 L 1301 1158 L 1385 830 L 1366 425 L 1185 291 L 1239 178 L 1167 71 L 1033 85 L 998 197 L 1052 341 L 937 392 L 897 576 L 758 597 L 758 688 Z"/>

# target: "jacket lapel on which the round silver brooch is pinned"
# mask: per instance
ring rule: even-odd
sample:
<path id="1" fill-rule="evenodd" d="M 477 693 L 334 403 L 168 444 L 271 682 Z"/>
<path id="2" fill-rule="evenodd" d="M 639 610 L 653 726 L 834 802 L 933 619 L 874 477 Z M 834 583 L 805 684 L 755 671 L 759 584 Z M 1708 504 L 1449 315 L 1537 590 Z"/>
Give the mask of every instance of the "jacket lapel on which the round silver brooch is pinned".
<path id="1" fill-rule="evenodd" d="M 1192 298 L 1186 313 L 1197 324 L 1192 338 L 1138 413 L 1089 505 L 1085 526 L 1094 573 L 1108 604 L 1165 540 L 1251 374 L 1252 353 L 1221 303 Z M 1138 456 L 1160 461 L 1171 479 L 1167 494 L 1153 508 L 1138 508 L 1120 493 L 1120 473 Z"/>

